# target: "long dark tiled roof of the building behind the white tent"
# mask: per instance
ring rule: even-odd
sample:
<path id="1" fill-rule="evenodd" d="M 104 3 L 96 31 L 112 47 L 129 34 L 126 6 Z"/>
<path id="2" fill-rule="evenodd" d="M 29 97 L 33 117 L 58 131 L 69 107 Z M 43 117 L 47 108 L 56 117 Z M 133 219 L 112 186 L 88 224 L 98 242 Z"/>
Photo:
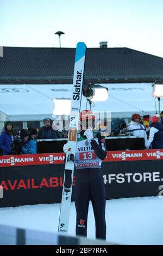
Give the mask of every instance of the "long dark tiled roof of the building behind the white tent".
<path id="1" fill-rule="evenodd" d="M 3 47 L 0 83 L 72 83 L 75 48 Z M 153 82 L 163 58 L 129 48 L 87 48 L 87 82 Z"/>

